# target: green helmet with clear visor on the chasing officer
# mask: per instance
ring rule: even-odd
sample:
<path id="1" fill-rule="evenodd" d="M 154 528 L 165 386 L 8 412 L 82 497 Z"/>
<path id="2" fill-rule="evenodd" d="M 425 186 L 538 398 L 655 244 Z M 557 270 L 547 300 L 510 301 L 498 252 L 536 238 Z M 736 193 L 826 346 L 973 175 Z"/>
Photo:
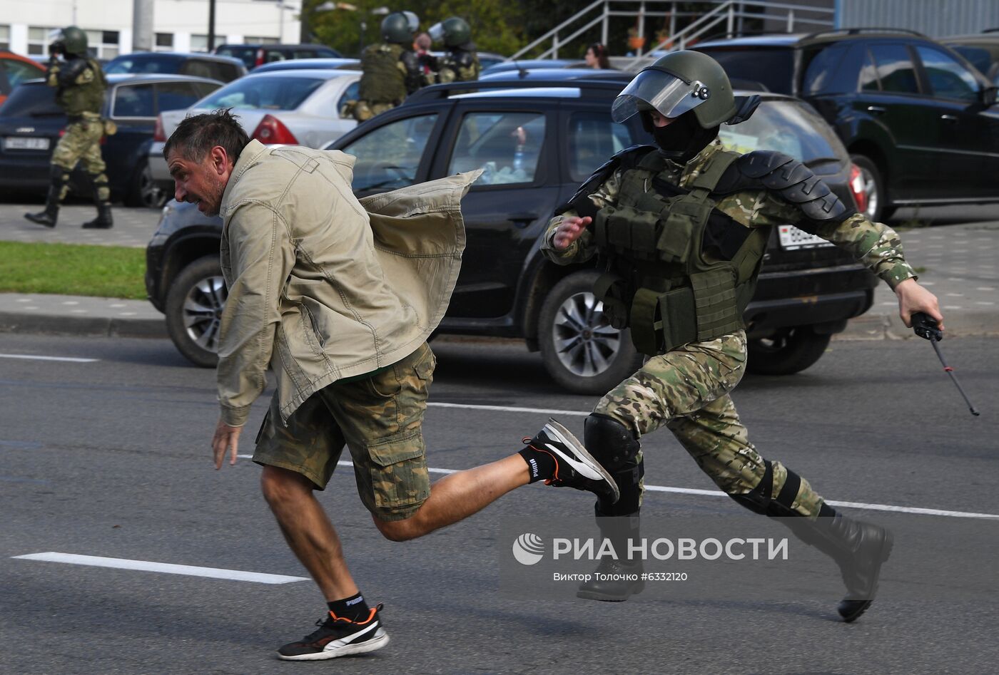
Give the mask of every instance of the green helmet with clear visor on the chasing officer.
<path id="1" fill-rule="evenodd" d="M 655 110 L 676 118 L 693 111 L 702 129 L 717 127 L 735 115 L 735 98 L 728 76 L 717 61 L 700 52 L 666 54 L 642 69 L 610 107 L 614 122 L 635 113 Z"/>

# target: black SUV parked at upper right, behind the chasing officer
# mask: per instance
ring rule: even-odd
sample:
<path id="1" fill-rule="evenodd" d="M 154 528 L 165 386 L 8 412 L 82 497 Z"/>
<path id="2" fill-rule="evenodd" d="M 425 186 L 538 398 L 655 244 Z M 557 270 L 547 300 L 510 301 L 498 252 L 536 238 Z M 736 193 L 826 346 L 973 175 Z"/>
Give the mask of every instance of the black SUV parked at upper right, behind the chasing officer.
<path id="1" fill-rule="evenodd" d="M 860 168 L 872 220 L 901 206 L 999 202 L 996 88 L 930 38 L 854 28 L 692 49 L 731 78 L 811 103 Z"/>

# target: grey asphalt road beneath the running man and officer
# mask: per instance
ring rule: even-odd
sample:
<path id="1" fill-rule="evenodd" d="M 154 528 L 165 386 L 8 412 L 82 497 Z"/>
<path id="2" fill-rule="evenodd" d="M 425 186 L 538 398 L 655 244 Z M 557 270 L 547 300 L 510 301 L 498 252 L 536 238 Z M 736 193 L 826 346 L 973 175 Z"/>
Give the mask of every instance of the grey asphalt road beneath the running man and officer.
<path id="1" fill-rule="evenodd" d="M 386 605 L 392 643 L 310 665 L 273 655 L 323 614 L 310 581 L 268 585 L 13 557 L 61 552 L 305 575 L 259 495 L 259 467 L 246 459 L 210 467 L 212 371 L 187 365 L 167 340 L 0 335 L 0 672 L 995 672 L 999 585 L 989 575 L 999 520 L 911 512 L 999 514 L 999 349 L 994 338 L 972 337 L 942 347 L 981 416 L 968 413 L 923 340 L 835 342 L 798 375 L 747 377 L 734 398 L 764 456 L 827 499 L 908 508 L 890 514 L 897 556 L 908 542 L 925 569 L 985 560 L 977 590 L 967 580 L 915 579 L 898 564 L 889 574 L 893 557 L 877 602 L 851 625 L 836 620 L 836 596 L 784 589 L 744 599 L 739 587 L 753 583 L 751 567 L 737 568 L 728 586 L 705 588 L 700 602 L 689 593 L 619 604 L 517 596 L 498 581 L 509 551 L 501 527 L 585 515 L 588 495 L 532 485 L 464 523 L 393 543 L 371 524 L 342 468 L 321 498 L 365 594 Z M 538 410 L 582 413 L 594 402 L 560 392 L 538 357 L 517 345 L 435 349 L 432 401 L 468 407 L 429 409 L 432 467 L 500 458 L 543 423 Z M 530 410 L 474 407 L 484 405 Z M 260 401 L 252 431 L 264 408 Z M 581 431 L 581 416 L 555 416 Z M 252 451 L 252 431 L 241 452 Z M 643 446 L 646 484 L 713 489 L 667 432 Z M 744 512 L 723 497 L 675 491 L 648 492 L 642 511 L 657 525 Z M 831 564 L 825 571 L 837 576 Z M 806 581 L 797 585 L 807 590 Z"/>

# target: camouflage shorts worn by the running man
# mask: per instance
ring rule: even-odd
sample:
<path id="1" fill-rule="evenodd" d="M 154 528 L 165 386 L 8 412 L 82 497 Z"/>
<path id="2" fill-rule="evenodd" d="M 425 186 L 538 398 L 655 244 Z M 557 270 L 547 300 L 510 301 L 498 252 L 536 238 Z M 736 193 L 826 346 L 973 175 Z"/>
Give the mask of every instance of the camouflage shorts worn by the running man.
<path id="1" fill-rule="evenodd" d="M 431 493 L 423 434 L 436 359 L 424 343 L 361 379 L 320 389 L 281 424 L 277 395 L 257 435 L 253 460 L 309 478 L 325 489 L 346 444 L 365 506 L 382 520 L 405 520 Z"/>

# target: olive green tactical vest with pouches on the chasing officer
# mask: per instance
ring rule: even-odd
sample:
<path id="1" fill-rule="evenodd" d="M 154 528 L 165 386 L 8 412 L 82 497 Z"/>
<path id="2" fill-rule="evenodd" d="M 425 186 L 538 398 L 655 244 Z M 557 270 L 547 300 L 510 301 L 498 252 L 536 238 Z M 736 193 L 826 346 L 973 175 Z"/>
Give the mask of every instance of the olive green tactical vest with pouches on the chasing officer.
<path id="1" fill-rule="evenodd" d="M 745 328 L 742 313 L 756 288 L 770 228 L 742 229 L 714 211 L 711 193 L 738 157 L 714 154 L 683 189 L 669 182 L 665 158 L 650 152 L 623 172 L 617 204 L 593 219 L 594 241 L 607 263 L 594 292 L 611 326 L 630 328 L 642 353 L 665 353 Z M 739 240 L 720 255 L 711 243 L 726 230 Z"/>

